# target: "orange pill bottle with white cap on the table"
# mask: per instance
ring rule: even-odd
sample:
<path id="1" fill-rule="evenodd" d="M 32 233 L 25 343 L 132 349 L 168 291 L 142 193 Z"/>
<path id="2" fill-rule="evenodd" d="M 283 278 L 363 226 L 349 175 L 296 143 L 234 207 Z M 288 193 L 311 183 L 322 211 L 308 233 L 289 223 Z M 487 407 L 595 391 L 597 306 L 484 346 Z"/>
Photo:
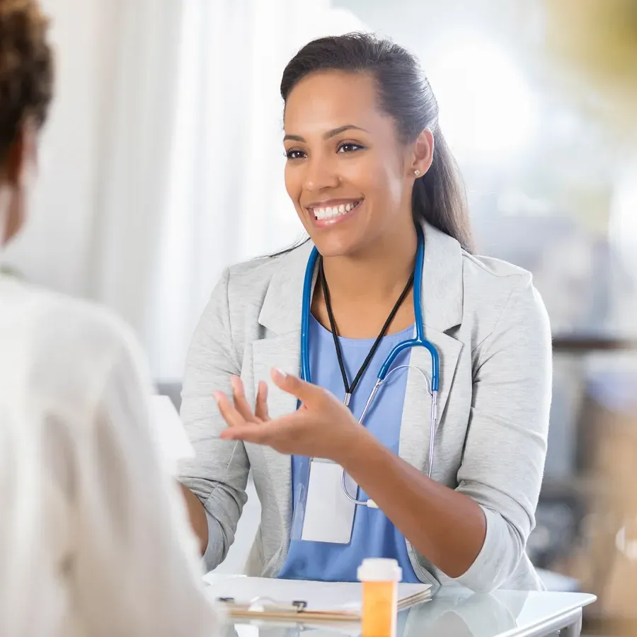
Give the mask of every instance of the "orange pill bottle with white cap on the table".
<path id="1" fill-rule="evenodd" d="M 395 637 L 403 570 L 396 560 L 367 558 L 357 575 L 362 582 L 362 637 Z"/>

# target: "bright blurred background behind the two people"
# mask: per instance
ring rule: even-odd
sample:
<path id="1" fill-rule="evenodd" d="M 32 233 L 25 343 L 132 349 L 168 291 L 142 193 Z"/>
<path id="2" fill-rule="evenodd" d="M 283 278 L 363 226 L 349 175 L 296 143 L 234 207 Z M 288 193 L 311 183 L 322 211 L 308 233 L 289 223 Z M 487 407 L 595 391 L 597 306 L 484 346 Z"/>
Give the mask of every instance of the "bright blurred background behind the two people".
<path id="1" fill-rule="evenodd" d="M 374 30 L 420 57 L 478 252 L 549 310 L 549 455 L 529 541 L 557 587 L 637 602 L 637 0 L 45 0 L 57 95 L 33 218 L 4 267 L 132 323 L 178 404 L 229 263 L 301 233 L 282 180 L 280 75 L 311 38 Z M 251 542 L 253 496 L 222 566 Z"/>

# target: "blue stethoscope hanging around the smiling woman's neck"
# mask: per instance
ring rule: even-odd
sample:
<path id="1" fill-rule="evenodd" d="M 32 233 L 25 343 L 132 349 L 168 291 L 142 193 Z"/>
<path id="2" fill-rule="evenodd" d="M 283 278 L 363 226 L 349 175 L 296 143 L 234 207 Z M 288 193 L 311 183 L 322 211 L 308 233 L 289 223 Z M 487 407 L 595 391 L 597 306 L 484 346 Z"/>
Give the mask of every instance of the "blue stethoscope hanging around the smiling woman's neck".
<path id="1" fill-rule="evenodd" d="M 310 372 L 310 364 L 309 364 L 309 319 L 310 319 L 310 307 L 311 307 L 311 299 L 312 299 L 312 287 L 314 282 L 314 268 L 316 265 L 316 259 L 319 258 L 319 251 L 314 248 L 311 251 L 307 262 L 307 268 L 305 270 L 305 279 L 303 283 L 303 302 L 302 302 L 302 310 L 301 310 L 301 377 L 304 381 L 311 383 L 311 372 Z M 369 408 L 372 406 L 374 398 L 378 394 L 381 385 L 386 381 L 386 379 L 396 372 L 396 370 L 401 369 L 403 367 L 412 367 L 413 369 L 420 372 L 423 375 L 425 380 L 427 376 L 423 373 L 421 369 L 415 367 L 414 365 L 398 365 L 398 367 L 394 367 L 391 369 L 391 365 L 394 364 L 394 361 L 400 355 L 403 350 L 408 348 L 426 348 L 431 355 L 431 381 L 427 382 L 427 389 L 431 395 L 431 411 L 430 411 L 430 440 L 429 440 L 429 466 L 427 467 L 427 475 L 431 477 L 431 471 L 433 466 L 433 456 L 434 456 L 434 441 L 436 434 L 436 401 L 438 395 L 438 384 L 440 381 L 440 360 L 438 358 L 438 352 L 432 343 L 430 343 L 425 338 L 425 323 L 423 321 L 423 306 L 422 306 L 422 287 L 423 287 L 423 266 L 425 265 L 425 237 L 423 236 L 423 231 L 418 228 L 418 249 L 416 251 L 416 259 L 415 259 L 415 271 L 413 277 L 413 314 L 415 316 L 415 338 L 409 340 L 403 340 L 401 343 L 398 343 L 394 347 L 389 355 L 386 357 L 384 363 L 381 365 L 381 368 L 378 372 L 376 384 L 374 384 L 374 389 L 372 389 L 372 393 L 369 394 L 369 398 L 367 398 L 367 403 L 365 404 L 365 408 L 360 415 L 358 422 L 362 425 L 363 419 Z M 349 396 L 345 397 L 345 404 L 348 404 Z M 366 506 L 372 509 L 377 509 L 378 505 L 374 502 L 374 500 L 357 500 L 354 498 L 348 491 L 348 488 L 345 484 L 346 479 L 345 469 L 343 469 L 343 476 L 340 481 L 340 486 L 343 489 L 343 493 L 347 495 L 348 499 L 359 506 Z"/>

